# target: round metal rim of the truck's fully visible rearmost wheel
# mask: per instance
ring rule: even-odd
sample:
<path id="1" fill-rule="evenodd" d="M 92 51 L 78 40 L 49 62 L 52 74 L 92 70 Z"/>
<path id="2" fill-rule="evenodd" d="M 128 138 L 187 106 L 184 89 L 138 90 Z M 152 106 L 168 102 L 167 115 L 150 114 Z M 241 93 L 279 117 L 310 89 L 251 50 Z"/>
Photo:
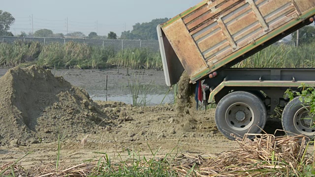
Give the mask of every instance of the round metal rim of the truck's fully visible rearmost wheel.
<path id="1" fill-rule="evenodd" d="M 249 129 L 254 122 L 252 108 L 245 103 L 234 103 L 225 112 L 225 121 L 236 131 Z"/>

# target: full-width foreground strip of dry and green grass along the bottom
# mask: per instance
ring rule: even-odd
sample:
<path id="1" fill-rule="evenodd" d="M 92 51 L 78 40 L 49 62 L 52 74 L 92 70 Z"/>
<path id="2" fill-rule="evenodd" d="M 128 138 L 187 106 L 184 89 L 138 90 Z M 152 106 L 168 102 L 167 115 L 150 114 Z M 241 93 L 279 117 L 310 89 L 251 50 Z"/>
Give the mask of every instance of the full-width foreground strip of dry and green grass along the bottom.
<path id="1" fill-rule="evenodd" d="M 246 136 L 252 136 L 247 134 Z M 178 176 L 178 177 L 299 177 L 314 174 L 314 156 L 308 153 L 311 142 L 305 136 L 275 137 L 270 134 L 254 134 L 253 141 L 236 140 L 239 148 L 218 155 L 170 154 L 165 157 L 140 159 L 139 154 L 129 153 L 126 161 L 111 162 L 104 154 L 94 162 L 73 167 L 47 164 L 41 168 L 23 169 L 8 163 L 0 167 L 2 175 L 36 177 L 94 177 L 94 176 Z M 139 158 L 137 158 L 139 157 Z M 3 170 L 6 169 L 5 172 Z"/>

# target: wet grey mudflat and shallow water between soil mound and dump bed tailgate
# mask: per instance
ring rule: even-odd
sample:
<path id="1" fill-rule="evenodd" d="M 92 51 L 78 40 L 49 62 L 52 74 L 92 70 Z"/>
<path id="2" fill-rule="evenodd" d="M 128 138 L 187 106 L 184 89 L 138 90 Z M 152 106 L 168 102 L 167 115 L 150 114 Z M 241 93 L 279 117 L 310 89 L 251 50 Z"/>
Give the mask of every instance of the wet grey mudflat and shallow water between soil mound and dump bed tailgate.
<path id="1" fill-rule="evenodd" d="M 0 67 L 0 77 L 8 67 Z M 123 101 L 132 104 L 132 96 L 129 84 L 138 81 L 142 86 L 150 87 L 147 100 L 148 105 L 158 105 L 163 100 L 169 87 L 165 84 L 163 71 L 149 70 L 126 70 L 119 69 L 52 69 L 55 76 L 62 76 L 73 86 L 85 89 L 94 100 Z M 106 90 L 107 76 L 107 90 Z M 126 97 L 127 95 L 127 97 Z M 172 101 L 172 96 L 164 98 L 163 103 Z"/>

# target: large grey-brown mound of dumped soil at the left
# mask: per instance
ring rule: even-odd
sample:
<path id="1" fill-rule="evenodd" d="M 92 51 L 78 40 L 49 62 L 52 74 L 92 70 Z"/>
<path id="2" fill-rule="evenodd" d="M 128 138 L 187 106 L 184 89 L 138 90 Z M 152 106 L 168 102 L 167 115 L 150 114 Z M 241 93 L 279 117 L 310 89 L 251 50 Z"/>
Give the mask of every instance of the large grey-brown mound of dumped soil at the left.
<path id="1" fill-rule="evenodd" d="M 74 139 L 103 129 L 110 116 L 63 77 L 38 66 L 11 68 L 0 78 L 0 145 Z M 14 140 L 14 141 L 13 141 Z"/>

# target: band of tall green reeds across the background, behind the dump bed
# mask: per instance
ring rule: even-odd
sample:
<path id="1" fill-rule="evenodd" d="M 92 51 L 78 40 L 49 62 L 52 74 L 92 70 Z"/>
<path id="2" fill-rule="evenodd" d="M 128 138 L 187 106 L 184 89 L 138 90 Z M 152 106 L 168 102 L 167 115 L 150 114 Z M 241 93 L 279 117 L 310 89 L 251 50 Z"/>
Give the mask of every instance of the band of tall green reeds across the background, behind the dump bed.
<path id="1" fill-rule="evenodd" d="M 300 47 L 272 45 L 234 67 L 315 67 L 315 43 Z M 74 42 L 22 41 L 0 43 L 0 66 L 38 64 L 50 68 L 162 69 L 159 52 L 147 48 L 114 51 L 111 47 L 87 46 Z"/>

